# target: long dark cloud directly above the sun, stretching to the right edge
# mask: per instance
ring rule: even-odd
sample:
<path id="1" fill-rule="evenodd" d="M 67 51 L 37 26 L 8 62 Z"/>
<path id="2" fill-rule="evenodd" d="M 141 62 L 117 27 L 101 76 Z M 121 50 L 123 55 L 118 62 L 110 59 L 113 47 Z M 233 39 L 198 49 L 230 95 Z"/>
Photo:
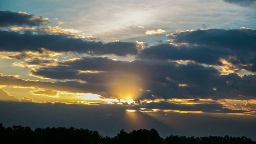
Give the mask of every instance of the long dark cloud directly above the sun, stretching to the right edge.
<path id="1" fill-rule="evenodd" d="M 221 75 L 214 67 L 196 63 L 176 64 L 162 60 L 116 61 L 108 58 L 80 58 L 62 61 L 58 66 L 31 70 L 33 76 L 83 80 L 92 84 L 124 84 L 125 81 L 140 83 L 140 99 L 157 98 L 234 98 L 254 99 L 254 75 Z M 84 71 L 84 72 L 82 72 Z M 184 84 L 184 86 L 179 86 Z M 150 90 L 150 91 L 146 91 Z M 110 91 L 110 90 L 108 90 Z M 152 96 L 153 95 L 153 96 Z"/>

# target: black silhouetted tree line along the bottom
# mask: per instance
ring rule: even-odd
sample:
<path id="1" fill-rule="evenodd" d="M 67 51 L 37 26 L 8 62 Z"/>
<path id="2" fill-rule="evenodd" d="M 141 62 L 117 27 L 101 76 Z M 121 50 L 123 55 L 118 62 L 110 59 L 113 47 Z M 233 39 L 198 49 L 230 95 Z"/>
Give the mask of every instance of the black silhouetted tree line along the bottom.
<path id="1" fill-rule="evenodd" d="M 12 126 L 5 128 L 0 124 L 1 144 L 256 144 L 250 138 L 232 136 L 209 136 L 209 137 L 186 137 L 167 136 L 161 138 L 155 129 L 133 130 L 130 133 L 121 130 L 113 138 L 102 136 L 97 131 L 78 129 L 74 127 L 65 128 L 36 128 L 32 130 L 26 126 Z"/>

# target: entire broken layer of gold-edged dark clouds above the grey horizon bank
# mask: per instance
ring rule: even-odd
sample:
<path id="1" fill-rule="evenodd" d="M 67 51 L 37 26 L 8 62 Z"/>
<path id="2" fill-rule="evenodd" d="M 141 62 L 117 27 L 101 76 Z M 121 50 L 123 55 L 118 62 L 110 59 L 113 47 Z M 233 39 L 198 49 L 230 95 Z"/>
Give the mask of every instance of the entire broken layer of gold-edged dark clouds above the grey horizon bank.
<path id="1" fill-rule="evenodd" d="M 1 74 L 2 87 L 32 88 L 30 96 L 59 98 L 60 102 L 62 93 L 69 93 L 65 98 L 71 103 L 86 103 L 90 100 L 83 94 L 98 94 L 90 102 L 105 99 L 111 104 L 130 104 L 135 111 L 146 107 L 145 111 L 255 115 L 256 30 L 176 31 L 166 34 L 166 43 L 161 40 L 148 46 L 138 41 L 89 40 L 74 34 L 81 31 L 72 28 L 34 28 L 48 19 L 24 12 L 2 15 L 6 13 L 41 21 L 3 25 L 8 28 L 0 31 L 0 58 L 18 60 L 14 66 L 28 70 L 30 79 Z M 39 102 L 29 96 L 20 100 Z"/>

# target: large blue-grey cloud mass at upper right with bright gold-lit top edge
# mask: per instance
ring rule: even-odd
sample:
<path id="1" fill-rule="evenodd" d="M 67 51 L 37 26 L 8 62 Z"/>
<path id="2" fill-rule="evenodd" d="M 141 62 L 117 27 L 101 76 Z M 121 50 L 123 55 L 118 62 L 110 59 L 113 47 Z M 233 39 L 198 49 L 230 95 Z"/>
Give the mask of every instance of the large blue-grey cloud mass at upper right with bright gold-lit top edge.
<path id="1" fill-rule="evenodd" d="M 233 65 L 231 70 L 256 70 L 256 30 L 208 29 L 178 32 L 167 36 L 173 39 L 174 44 L 145 48 L 138 58 L 192 60 L 218 66 L 222 66 L 222 60 L 226 60 Z"/>

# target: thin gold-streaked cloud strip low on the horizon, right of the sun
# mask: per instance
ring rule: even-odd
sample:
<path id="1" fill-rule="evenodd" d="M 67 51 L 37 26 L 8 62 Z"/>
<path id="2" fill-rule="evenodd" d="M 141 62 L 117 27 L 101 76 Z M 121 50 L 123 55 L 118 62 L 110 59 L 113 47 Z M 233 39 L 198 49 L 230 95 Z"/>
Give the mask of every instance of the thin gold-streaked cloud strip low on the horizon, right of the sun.
<path id="1" fill-rule="evenodd" d="M 222 114 L 251 114 L 255 111 L 250 111 L 237 106 L 227 105 L 221 100 L 211 99 L 156 99 L 156 100 L 140 100 L 140 105 L 131 106 L 133 110 L 144 112 L 150 109 L 156 109 L 155 112 L 180 112 L 180 113 L 222 113 Z"/>

